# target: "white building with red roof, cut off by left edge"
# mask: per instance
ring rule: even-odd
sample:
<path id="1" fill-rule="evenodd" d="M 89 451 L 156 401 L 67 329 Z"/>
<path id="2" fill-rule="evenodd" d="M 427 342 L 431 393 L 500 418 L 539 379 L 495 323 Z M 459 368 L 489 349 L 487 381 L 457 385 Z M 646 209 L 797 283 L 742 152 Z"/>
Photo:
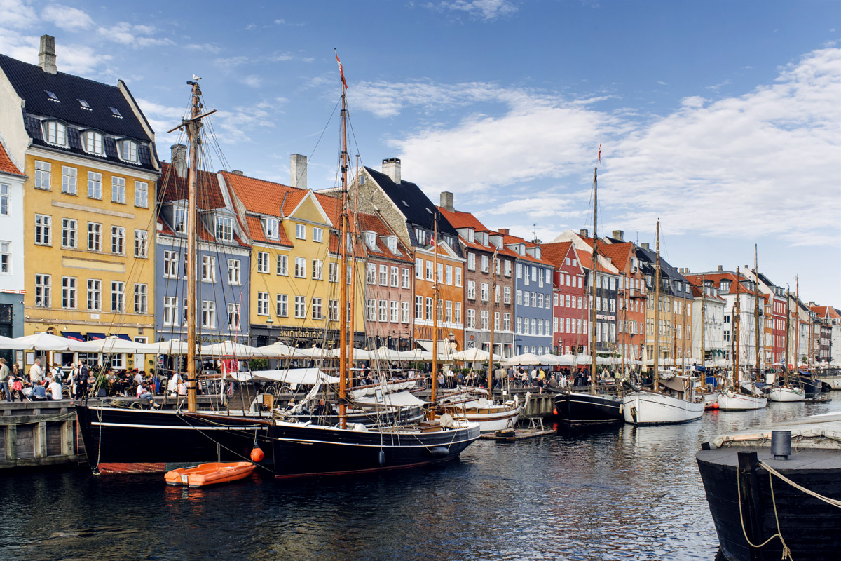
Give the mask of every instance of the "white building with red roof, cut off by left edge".
<path id="1" fill-rule="evenodd" d="M 0 135 L 0 336 L 24 335 L 24 181 Z M 0 351 L 11 363 L 11 351 Z M 23 366 L 21 364 L 21 366 Z"/>

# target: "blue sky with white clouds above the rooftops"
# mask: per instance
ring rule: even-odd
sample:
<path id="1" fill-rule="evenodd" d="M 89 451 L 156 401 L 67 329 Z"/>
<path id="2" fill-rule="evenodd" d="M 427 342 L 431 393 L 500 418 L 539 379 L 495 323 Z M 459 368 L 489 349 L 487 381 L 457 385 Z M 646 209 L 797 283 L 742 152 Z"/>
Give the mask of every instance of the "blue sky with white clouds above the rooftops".
<path id="1" fill-rule="evenodd" d="M 0 0 L 0 52 L 124 80 L 168 160 L 201 77 L 215 169 L 336 185 L 351 156 L 490 229 L 592 229 L 692 273 L 754 265 L 841 308 L 841 2 Z M 209 127 L 210 129 L 211 127 Z M 208 130 L 209 130 L 208 129 Z M 2 131 L 0 131 L 2 132 Z M 598 154 L 601 147 L 601 161 Z"/>

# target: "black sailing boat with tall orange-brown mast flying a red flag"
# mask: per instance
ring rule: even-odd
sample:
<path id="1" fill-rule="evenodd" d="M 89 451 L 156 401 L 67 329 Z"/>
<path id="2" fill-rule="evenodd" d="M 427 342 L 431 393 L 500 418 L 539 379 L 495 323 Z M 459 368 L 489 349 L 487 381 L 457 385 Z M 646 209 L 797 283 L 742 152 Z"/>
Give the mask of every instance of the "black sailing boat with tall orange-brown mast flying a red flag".
<path id="1" fill-rule="evenodd" d="M 336 55 L 336 61 L 339 60 Z M 340 271 L 347 270 L 348 232 L 351 211 L 347 196 L 347 100 L 344 71 L 341 71 L 341 214 L 339 251 Z M 354 217 L 355 218 L 355 217 Z M 437 253 L 436 253 L 437 255 Z M 436 267 L 437 269 L 437 267 Z M 267 425 L 272 445 L 274 476 L 290 479 L 320 475 L 343 475 L 411 468 L 443 462 L 458 455 L 479 438 L 479 425 L 442 415 L 438 420 L 402 426 L 368 428 L 347 423 L 348 361 L 347 284 L 340 283 L 340 352 L 339 352 L 339 423 L 338 426 L 310 422 L 272 421 Z M 437 330 L 433 330 L 436 332 Z M 433 344 L 433 373 L 437 346 Z M 432 399 L 434 402 L 434 388 Z"/>

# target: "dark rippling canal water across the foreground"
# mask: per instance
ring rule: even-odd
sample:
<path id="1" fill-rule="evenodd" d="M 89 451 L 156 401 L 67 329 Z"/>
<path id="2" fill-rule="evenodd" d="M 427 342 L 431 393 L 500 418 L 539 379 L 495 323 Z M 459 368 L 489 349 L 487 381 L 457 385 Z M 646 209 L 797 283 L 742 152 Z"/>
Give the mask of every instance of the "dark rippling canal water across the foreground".
<path id="1" fill-rule="evenodd" d="M 352 479 L 209 488 L 87 468 L 0 478 L 0 559 L 704 559 L 717 537 L 694 454 L 722 431 L 841 410 L 772 404 L 683 426 L 480 441 Z"/>

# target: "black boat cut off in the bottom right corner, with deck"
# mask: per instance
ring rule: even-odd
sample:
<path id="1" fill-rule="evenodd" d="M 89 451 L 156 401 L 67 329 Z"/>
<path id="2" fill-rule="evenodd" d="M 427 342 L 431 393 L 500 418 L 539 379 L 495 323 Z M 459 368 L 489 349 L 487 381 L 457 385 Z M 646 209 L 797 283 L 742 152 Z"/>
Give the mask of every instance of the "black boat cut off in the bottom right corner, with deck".
<path id="1" fill-rule="evenodd" d="M 770 443 L 774 438 L 771 431 L 784 431 L 783 437 L 776 435 L 780 440 Z M 785 431 L 791 431 L 791 436 Z M 783 541 L 791 550 L 791 558 L 798 561 L 838 558 L 838 437 L 841 415 L 817 415 L 739 431 L 704 444 L 696 454 L 698 469 L 722 553 L 728 561 L 782 558 Z M 785 445 L 781 443 L 788 444 L 789 454 L 785 459 L 782 454 L 775 459 L 780 445 Z M 754 548 L 748 539 L 754 546 L 768 543 Z"/>

